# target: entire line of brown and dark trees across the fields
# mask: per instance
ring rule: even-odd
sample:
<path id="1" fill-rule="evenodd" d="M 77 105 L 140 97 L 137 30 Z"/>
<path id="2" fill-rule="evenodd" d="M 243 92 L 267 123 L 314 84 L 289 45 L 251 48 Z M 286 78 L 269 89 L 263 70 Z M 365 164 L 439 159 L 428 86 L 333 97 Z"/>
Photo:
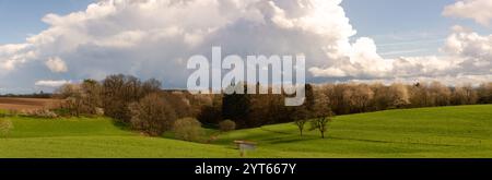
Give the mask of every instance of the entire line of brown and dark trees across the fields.
<path id="1" fill-rule="evenodd" d="M 162 83 L 154 79 L 140 81 L 117 74 L 101 82 L 85 80 L 80 84 L 67 84 L 56 92 L 56 96 L 65 99 L 61 113 L 104 115 L 149 135 L 187 127 L 184 124 L 223 127 L 224 131 L 230 131 L 231 127 L 244 129 L 285 122 L 294 122 L 301 134 L 304 124 L 309 123 L 311 129 L 319 130 L 324 135 L 329 117 L 333 115 L 492 103 L 492 83 L 456 87 L 438 82 L 306 84 L 305 104 L 298 107 L 284 106 L 284 94 L 192 95 L 184 91 L 164 91 L 161 86 Z M 190 122 L 190 118 L 198 123 Z M 188 122 L 177 123 L 179 119 Z"/>

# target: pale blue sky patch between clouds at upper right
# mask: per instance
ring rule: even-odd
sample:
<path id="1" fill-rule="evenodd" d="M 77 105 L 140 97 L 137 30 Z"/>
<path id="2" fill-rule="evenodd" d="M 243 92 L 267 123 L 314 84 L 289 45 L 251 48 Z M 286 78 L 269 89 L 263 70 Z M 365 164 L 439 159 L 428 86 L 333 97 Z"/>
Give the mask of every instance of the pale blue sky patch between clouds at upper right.
<path id="1" fill-rule="evenodd" d="M 358 29 L 353 38 L 367 36 L 378 45 L 386 58 L 438 53 L 449 27 L 460 24 L 481 34 L 491 29 L 471 20 L 442 15 L 444 7 L 455 0 L 345 0 L 342 7 Z"/>

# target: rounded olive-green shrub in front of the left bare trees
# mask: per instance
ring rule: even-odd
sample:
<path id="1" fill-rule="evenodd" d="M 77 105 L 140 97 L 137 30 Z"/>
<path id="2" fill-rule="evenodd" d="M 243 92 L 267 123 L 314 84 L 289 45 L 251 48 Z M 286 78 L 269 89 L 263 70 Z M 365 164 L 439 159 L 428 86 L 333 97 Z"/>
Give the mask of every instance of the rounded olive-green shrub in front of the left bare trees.
<path id="1" fill-rule="evenodd" d="M 179 119 L 174 123 L 176 139 L 197 142 L 204 135 L 201 123 L 194 118 Z"/>

